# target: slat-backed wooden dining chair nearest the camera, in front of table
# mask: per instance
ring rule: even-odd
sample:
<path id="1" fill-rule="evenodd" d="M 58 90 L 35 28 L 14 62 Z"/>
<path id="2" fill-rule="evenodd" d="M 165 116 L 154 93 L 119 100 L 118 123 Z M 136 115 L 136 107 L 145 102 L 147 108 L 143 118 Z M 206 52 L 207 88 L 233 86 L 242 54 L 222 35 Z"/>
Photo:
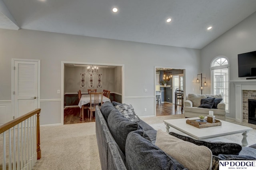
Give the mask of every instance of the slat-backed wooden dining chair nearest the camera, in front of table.
<path id="1" fill-rule="evenodd" d="M 92 113 L 95 112 L 96 106 L 102 105 L 103 92 L 90 92 L 90 107 L 88 107 L 88 114 L 90 111 L 90 121 L 92 121 Z"/>

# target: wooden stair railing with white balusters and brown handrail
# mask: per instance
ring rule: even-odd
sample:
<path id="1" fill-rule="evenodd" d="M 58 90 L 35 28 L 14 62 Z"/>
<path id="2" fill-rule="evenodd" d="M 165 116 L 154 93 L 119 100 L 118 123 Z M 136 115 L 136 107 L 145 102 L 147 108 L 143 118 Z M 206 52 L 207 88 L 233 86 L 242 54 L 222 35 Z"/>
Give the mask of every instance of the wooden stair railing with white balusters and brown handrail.
<path id="1" fill-rule="evenodd" d="M 41 109 L 35 109 L 0 126 L 0 136 L 3 138 L 2 170 L 6 170 L 6 166 L 9 170 L 31 170 L 41 158 L 40 111 Z M 6 132 L 9 136 L 8 155 L 6 155 Z M 6 164 L 6 156 L 8 156 L 8 164 Z"/>

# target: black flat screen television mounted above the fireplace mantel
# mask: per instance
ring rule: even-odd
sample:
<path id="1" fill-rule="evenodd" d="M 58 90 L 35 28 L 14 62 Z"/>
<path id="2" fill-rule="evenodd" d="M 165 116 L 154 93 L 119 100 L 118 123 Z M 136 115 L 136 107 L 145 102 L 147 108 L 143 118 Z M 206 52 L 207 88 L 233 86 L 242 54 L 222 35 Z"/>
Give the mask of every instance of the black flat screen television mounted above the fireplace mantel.
<path id="1" fill-rule="evenodd" d="M 256 77 L 256 51 L 238 54 L 238 77 Z"/>

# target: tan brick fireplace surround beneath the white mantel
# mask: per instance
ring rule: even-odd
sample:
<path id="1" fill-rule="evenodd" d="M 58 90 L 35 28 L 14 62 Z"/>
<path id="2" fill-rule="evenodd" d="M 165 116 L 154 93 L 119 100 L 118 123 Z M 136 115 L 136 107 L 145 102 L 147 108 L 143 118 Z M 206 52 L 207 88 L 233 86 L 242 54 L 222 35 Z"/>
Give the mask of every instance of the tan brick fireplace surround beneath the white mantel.
<path id="1" fill-rule="evenodd" d="M 256 90 L 243 90 L 243 122 L 248 123 L 249 105 L 248 99 L 256 100 Z M 252 123 L 252 122 L 249 122 Z M 253 123 L 255 124 L 255 123 Z"/>

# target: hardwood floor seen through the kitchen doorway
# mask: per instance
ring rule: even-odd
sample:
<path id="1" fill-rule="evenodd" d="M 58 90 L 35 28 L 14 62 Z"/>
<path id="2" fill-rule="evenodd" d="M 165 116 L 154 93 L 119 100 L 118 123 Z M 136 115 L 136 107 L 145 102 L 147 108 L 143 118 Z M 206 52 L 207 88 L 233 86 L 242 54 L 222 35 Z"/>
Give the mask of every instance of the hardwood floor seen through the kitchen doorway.
<path id="1" fill-rule="evenodd" d="M 181 106 L 178 105 L 175 110 L 175 106 L 172 103 L 156 103 L 156 116 L 167 116 L 167 115 L 180 115 L 183 114 L 181 112 Z"/>

